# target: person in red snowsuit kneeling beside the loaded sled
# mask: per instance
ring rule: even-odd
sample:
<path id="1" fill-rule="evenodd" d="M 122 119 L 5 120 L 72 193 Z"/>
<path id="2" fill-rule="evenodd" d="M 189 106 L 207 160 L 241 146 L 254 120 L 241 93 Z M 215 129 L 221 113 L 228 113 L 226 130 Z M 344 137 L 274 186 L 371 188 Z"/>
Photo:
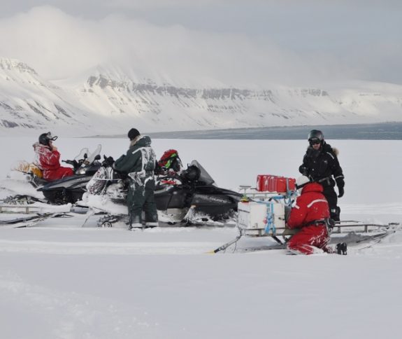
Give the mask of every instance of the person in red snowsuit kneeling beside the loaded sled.
<path id="1" fill-rule="evenodd" d="M 316 182 L 310 182 L 308 177 L 301 177 L 296 187 L 303 187 L 301 195 L 296 199 L 296 205 L 291 209 L 287 227 L 301 228 L 287 242 L 287 248 L 297 254 L 313 254 L 331 252 L 326 248 L 329 234 L 325 219 L 329 218 L 329 206 L 323 188 Z"/>

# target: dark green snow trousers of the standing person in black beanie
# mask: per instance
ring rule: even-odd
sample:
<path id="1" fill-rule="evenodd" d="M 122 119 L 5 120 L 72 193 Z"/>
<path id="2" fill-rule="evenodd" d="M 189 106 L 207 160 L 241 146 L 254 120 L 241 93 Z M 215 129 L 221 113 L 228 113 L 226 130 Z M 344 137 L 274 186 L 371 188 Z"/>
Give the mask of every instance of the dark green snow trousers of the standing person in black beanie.
<path id="1" fill-rule="evenodd" d="M 158 212 L 154 191 L 155 180 L 153 177 L 139 180 L 130 179 L 127 194 L 130 228 L 143 227 L 143 211 L 145 212 L 145 227 L 158 226 Z"/>

